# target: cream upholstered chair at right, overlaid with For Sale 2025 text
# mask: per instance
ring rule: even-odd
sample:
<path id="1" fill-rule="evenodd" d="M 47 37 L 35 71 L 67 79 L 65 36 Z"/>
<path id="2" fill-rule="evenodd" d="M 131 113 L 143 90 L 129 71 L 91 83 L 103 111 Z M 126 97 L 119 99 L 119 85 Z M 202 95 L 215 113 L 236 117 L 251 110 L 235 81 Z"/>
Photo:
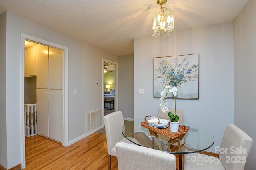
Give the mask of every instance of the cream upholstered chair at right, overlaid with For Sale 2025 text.
<path id="1" fill-rule="evenodd" d="M 252 142 L 248 134 L 236 125 L 228 124 L 220 144 L 219 158 L 184 154 L 184 170 L 243 170 Z"/>

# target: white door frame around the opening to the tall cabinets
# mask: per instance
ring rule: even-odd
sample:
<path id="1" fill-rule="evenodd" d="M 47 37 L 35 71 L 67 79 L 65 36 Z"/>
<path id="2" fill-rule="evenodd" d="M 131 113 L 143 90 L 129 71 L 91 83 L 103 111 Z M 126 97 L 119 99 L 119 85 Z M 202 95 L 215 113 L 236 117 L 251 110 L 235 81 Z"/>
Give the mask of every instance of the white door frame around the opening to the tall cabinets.
<path id="1" fill-rule="evenodd" d="M 62 89 L 62 146 L 68 146 L 68 47 L 55 44 L 40 38 L 21 33 L 20 38 L 20 140 L 21 140 L 21 168 L 26 167 L 25 156 L 25 117 L 24 117 L 24 70 L 25 70 L 25 40 L 43 44 L 63 50 L 63 89 Z"/>

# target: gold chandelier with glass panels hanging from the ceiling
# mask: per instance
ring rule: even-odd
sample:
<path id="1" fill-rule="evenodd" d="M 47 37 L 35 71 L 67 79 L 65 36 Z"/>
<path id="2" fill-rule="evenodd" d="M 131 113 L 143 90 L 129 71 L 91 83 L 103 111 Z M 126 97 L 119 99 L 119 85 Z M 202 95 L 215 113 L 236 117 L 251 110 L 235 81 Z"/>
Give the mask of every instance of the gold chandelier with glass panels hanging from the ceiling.
<path id="1" fill-rule="evenodd" d="M 152 36 L 160 36 L 160 32 L 162 32 L 162 36 L 168 36 L 174 28 L 173 10 L 167 11 L 167 8 L 163 7 L 166 2 L 167 0 L 157 0 L 156 2 L 161 5 L 161 12 L 155 11 Z"/>

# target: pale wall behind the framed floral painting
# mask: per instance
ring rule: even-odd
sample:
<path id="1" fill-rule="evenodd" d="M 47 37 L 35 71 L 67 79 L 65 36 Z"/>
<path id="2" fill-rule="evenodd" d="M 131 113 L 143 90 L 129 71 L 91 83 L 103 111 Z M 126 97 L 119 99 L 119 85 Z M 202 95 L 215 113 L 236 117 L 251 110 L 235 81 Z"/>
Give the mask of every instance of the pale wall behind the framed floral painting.
<path id="1" fill-rule="evenodd" d="M 208 151 L 214 152 L 234 121 L 233 50 L 233 22 L 135 39 L 134 118 L 157 116 L 160 107 L 153 98 L 153 58 L 199 53 L 199 100 L 176 100 L 176 107 L 184 110 L 184 120 L 212 133 L 215 143 Z"/>

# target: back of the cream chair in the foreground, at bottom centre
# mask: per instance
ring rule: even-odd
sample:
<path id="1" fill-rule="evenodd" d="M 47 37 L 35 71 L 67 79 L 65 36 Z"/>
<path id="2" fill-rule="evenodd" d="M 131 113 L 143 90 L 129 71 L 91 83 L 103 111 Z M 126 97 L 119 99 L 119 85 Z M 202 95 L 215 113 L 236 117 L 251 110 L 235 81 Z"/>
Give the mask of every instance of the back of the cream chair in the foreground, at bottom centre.
<path id="1" fill-rule="evenodd" d="M 173 154 L 138 145 L 117 142 L 118 170 L 176 170 Z"/>

